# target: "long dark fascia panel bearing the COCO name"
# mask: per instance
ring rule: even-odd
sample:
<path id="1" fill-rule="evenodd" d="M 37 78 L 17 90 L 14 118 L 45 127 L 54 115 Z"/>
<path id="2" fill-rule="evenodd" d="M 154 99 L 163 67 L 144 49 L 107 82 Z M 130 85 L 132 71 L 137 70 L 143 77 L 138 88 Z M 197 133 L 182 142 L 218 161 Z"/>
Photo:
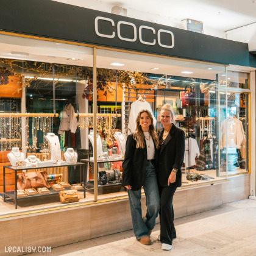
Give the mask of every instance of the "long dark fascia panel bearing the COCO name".
<path id="1" fill-rule="evenodd" d="M 0 29 L 110 48 L 249 66 L 246 43 L 51 0 L 1 0 Z"/>

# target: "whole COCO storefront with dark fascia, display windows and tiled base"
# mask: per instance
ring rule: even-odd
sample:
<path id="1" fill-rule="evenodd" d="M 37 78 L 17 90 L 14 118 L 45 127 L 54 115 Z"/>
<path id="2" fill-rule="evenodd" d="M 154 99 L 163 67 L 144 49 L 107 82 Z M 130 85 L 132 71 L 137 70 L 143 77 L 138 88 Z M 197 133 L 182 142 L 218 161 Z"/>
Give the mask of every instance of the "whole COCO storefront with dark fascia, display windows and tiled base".
<path id="1" fill-rule="evenodd" d="M 43 228 L 35 235 L 40 225 L 30 224 L 39 219 L 68 229 L 68 243 L 131 228 L 120 180 L 138 102 L 152 111 L 157 130 L 160 108 L 171 104 L 185 132 L 177 218 L 255 196 L 255 65 L 247 44 L 54 1 L 37 9 L 31 0 L 8 3 L 0 17 L 0 189 L 8 196 L 0 218 L 6 229 L 22 226 L 10 236 L 29 227 L 18 243 L 65 244 L 64 234 L 46 238 Z M 12 158 L 27 163 L 18 176 L 45 168 L 50 191 L 59 181 L 82 182 L 80 201 L 24 195 L 15 209 L 17 168 L 2 167 Z M 70 216 L 70 227 L 58 224 Z"/>

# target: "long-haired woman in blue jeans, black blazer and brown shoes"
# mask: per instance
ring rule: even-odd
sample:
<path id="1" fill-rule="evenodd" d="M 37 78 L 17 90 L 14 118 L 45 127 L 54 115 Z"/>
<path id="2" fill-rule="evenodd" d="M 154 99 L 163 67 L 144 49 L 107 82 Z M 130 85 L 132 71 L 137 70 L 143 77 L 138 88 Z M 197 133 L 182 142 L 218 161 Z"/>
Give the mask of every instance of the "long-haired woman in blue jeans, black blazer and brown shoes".
<path id="1" fill-rule="evenodd" d="M 155 152 L 159 141 L 153 118 L 148 110 L 141 110 L 137 128 L 127 137 L 123 162 L 123 183 L 127 188 L 133 232 L 140 243 L 152 244 L 150 235 L 160 210 L 160 197 L 155 172 Z M 146 215 L 141 214 L 141 187 L 146 195 Z"/>

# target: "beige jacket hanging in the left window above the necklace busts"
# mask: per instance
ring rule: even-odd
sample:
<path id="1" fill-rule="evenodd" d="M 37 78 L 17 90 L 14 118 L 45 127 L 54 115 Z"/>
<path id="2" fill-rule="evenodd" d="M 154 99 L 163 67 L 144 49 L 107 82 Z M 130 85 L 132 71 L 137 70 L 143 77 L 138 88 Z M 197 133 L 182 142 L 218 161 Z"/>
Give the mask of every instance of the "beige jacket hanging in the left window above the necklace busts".
<path id="1" fill-rule="evenodd" d="M 72 104 L 65 105 L 62 114 L 62 121 L 60 121 L 59 134 L 63 134 L 66 130 L 70 130 L 71 133 L 76 133 L 78 123 L 74 113 L 74 107 Z"/>

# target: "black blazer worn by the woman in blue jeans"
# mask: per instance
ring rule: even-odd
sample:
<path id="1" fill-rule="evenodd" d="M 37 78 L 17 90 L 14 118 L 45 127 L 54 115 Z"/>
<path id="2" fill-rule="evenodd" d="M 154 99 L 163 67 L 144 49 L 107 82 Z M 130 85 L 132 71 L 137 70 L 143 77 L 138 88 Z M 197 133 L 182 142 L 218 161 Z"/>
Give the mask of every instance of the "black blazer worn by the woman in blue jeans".
<path id="1" fill-rule="evenodd" d="M 153 140 L 154 141 L 154 140 Z M 154 143 L 155 144 L 155 143 Z M 144 140 L 144 145 L 146 141 Z M 147 147 L 136 148 L 136 140 L 133 133 L 126 140 L 126 153 L 123 162 L 123 186 L 132 186 L 132 190 L 140 190 L 146 178 Z"/>

